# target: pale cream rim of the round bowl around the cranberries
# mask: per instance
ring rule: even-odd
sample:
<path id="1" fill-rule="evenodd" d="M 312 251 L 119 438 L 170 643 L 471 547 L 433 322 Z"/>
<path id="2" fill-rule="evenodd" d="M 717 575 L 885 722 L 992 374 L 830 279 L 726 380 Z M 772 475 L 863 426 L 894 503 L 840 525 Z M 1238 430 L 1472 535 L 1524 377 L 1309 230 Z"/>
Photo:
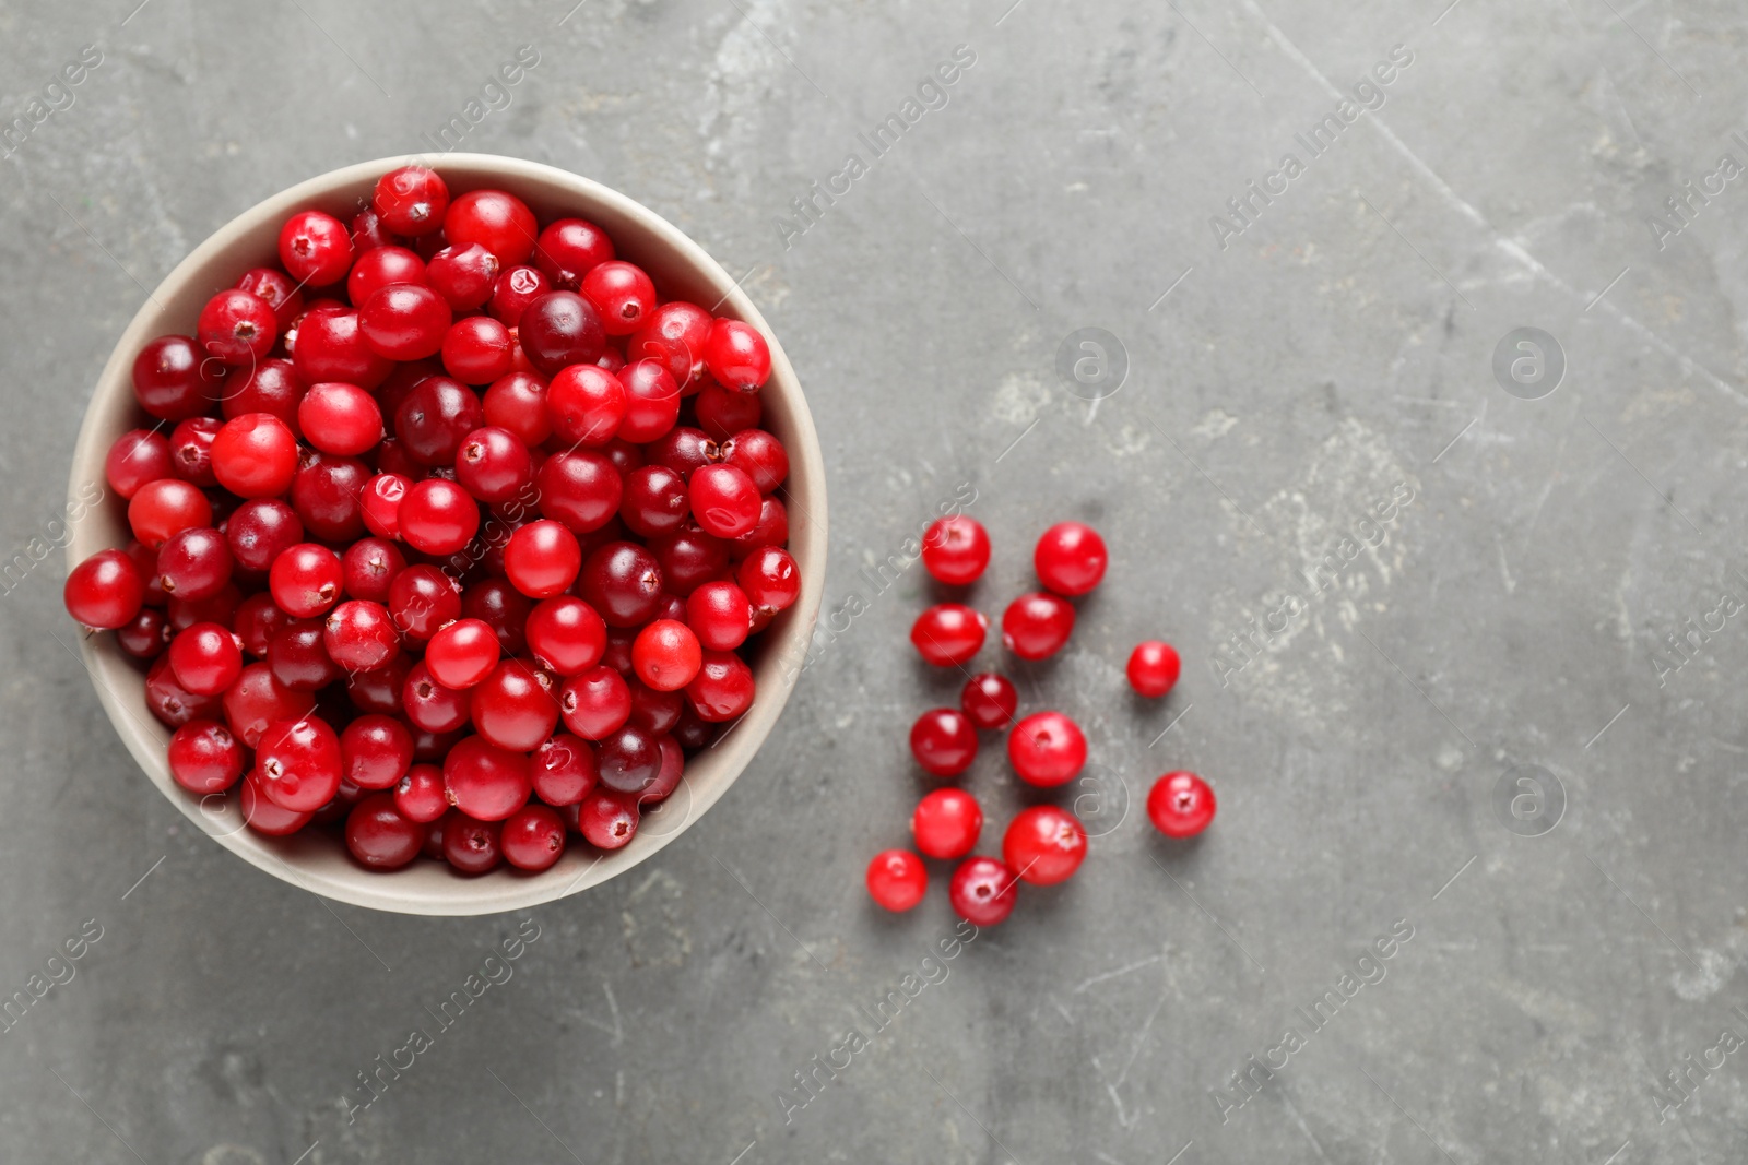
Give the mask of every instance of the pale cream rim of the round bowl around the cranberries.
<path id="1" fill-rule="evenodd" d="M 210 267 L 222 265 L 245 236 L 260 231 L 262 224 L 283 222 L 288 215 L 306 206 L 332 206 L 336 196 L 348 189 L 364 182 L 374 183 L 381 175 L 409 164 L 430 166 L 447 180 L 454 180 L 461 190 L 503 183 L 505 189 L 521 197 L 517 183 L 552 187 L 577 201 L 575 210 L 570 213 L 605 218 L 617 217 L 633 224 L 638 231 L 650 236 L 652 246 L 666 250 L 671 260 L 682 264 L 689 278 L 701 279 L 711 292 L 720 295 L 715 307 L 710 307 L 711 314 L 732 316 L 750 323 L 759 328 L 771 348 L 771 377 L 760 393 L 767 403 L 773 400 L 780 402 L 780 412 L 783 414 L 781 428 L 790 430 L 790 435 L 785 438 L 790 452 L 790 477 L 783 486 L 783 493 L 785 505 L 792 510 L 788 550 L 795 555 L 802 587 L 794 606 L 783 611 L 767 629 L 767 645 L 753 664 L 759 679 L 759 695 L 752 709 L 732 723 L 711 746 L 713 755 L 704 762 L 708 774 L 699 782 L 699 788 L 692 784 L 692 765 L 689 763 L 687 781 L 682 782 L 682 789 L 687 793 L 687 800 L 683 802 L 685 817 L 676 826 L 664 828 L 659 833 L 640 830 L 624 849 L 607 854 L 591 851 L 587 856 L 593 856 L 593 859 L 586 859 L 584 851 L 587 847 L 575 844 L 566 847 L 565 858 L 556 866 L 542 873 L 530 875 L 514 872 L 509 865 L 500 865 L 481 877 L 461 877 L 449 872 L 447 866 L 440 866 L 442 875 L 446 875 L 440 880 L 444 896 L 428 893 L 425 884 L 432 882 L 430 875 L 418 877 L 421 889 L 413 893 L 406 875 L 421 868 L 435 868 L 439 863 L 414 859 L 411 866 L 397 872 L 365 870 L 344 852 L 344 845 L 337 845 L 330 837 L 292 835 L 290 838 L 269 838 L 241 826 L 241 812 L 236 809 L 234 796 L 225 795 L 222 809 L 213 809 L 208 802 L 217 795 L 196 798 L 184 791 L 170 777 L 164 760 L 163 739 L 168 739 L 168 728 L 143 707 L 138 697 L 129 706 L 128 697 L 115 690 L 114 681 L 122 679 L 126 685 L 128 678 L 131 678 L 131 686 L 143 690 L 140 671 L 115 646 L 112 636 L 87 634 L 82 638 L 79 651 L 110 723 L 122 737 L 135 762 L 189 821 L 227 851 L 280 880 L 334 901 L 393 913 L 468 917 L 523 910 L 556 901 L 624 873 L 656 856 L 673 838 L 680 837 L 739 779 L 759 746 L 776 725 L 788 697 L 794 693 L 813 639 L 825 583 L 825 470 L 813 416 L 808 410 L 795 370 L 783 346 L 739 283 L 683 231 L 649 206 L 612 187 L 545 162 L 498 154 L 444 154 L 440 157 L 406 154 L 330 169 L 255 203 L 189 252 L 147 293 L 145 302 L 122 330 L 105 362 L 79 426 L 68 480 L 70 507 L 79 501 L 80 491 L 87 484 L 100 482 L 107 486 L 103 458 L 108 451 L 108 440 L 114 438 L 105 438 L 105 433 L 114 428 L 117 416 L 138 416 L 138 405 L 133 400 L 131 389 L 131 369 L 145 341 L 166 330 L 157 323 L 157 318 L 163 314 L 159 300 L 185 293 L 187 286 L 201 281 Z M 544 196 L 530 201 L 544 201 Z M 189 323 L 192 325 L 192 318 Z M 100 440 L 101 447 L 98 447 Z M 792 501 L 797 491 L 808 498 L 808 503 L 801 507 L 799 520 L 795 515 L 797 503 Z M 68 512 L 72 514 L 73 510 L 70 508 Z M 122 524 L 122 529 L 126 529 L 126 524 Z M 68 571 L 96 550 L 107 548 L 105 541 L 112 545 L 112 540 L 98 531 L 98 522 L 91 520 L 91 514 L 84 514 L 79 520 L 72 522 L 72 536 L 66 543 Z M 715 749 L 720 749 L 720 753 Z M 668 803 L 671 805 L 678 800 L 680 796 L 676 795 Z M 645 819 L 649 821 L 654 816 L 652 812 Z M 336 851 L 339 854 L 337 863 L 325 856 Z M 313 865 L 309 865 L 311 861 Z"/>

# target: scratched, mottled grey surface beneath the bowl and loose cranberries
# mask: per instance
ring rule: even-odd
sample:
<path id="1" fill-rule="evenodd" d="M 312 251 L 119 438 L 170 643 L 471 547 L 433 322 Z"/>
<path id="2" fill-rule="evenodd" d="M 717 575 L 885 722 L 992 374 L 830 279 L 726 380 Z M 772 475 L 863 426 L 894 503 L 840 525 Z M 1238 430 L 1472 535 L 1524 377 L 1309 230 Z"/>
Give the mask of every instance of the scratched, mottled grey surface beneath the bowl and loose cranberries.
<path id="1" fill-rule="evenodd" d="M 5 557 L 54 538 L 142 285 L 273 190 L 430 148 L 531 42 L 465 148 L 619 187 L 748 272 L 829 454 L 843 629 L 704 821 L 533 912 L 514 978 L 439 1031 L 519 919 L 327 906 L 191 831 L 103 720 L 51 555 L 0 601 L 0 994 L 87 919 L 101 940 L 0 1036 L 0 1158 L 1745 1156 L 1743 1055 L 1708 1051 L 1748 1036 L 1741 611 L 1655 660 L 1748 597 L 1748 183 L 1647 222 L 1748 162 L 1739 5 L 1007 3 L 0 10 L 0 121 L 103 54 L 0 166 Z M 1311 157 L 1295 134 L 1398 44 L 1384 105 Z M 946 105 L 871 161 L 858 133 L 956 45 L 975 65 Z M 867 173 L 785 246 L 851 152 Z M 1288 152 L 1287 190 L 1217 231 Z M 1096 407 L 1054 372 L 1082 327 L 1129 360 Z M 1495 383 L 1517 327 L 1564 349 L 1542 400 Z M 1112 541 L 1070 650 L 1019 669 L 1030 707 L 1087 727 L 1103 786 L 1070 795 L 1105 835 L 876 1034 L 860 1008 L 953 927 L 944 870 L 907 917 L 860 880 L 905 838 L 907 725 L 956 685 L 904 639 L 921 569 L 858 569 L 961 489 L 996 541 L 989 611 L 1047 522 Z M 1316 592 L 1344 536 L 1383 541 Z M 1250 618 L 1280 634 L 1218 667 Z M 1187 665 L 1143 707 L 1120 664 L 1150 634 Z M 1564 791 L 1540 837 L 1496 814 L 1514 765 Z M 1140 814 L 1175 767 L 1220 793 L 1194 845 Z M 996 748 L 970 786 L 991 831 L 1030 800 Z M 1295 1008 L 1397 920 L 1386 978 L 1313 1031 Z M 348 1120 L 414 1027 L 435 1044 Z M 871 1046 L 785 1121 L 778 1092 L 851 1027 Z M 1288 1027 L 1302 1046 L 1222 1113 L 1210 1090 L 1236 1106 Z"/>

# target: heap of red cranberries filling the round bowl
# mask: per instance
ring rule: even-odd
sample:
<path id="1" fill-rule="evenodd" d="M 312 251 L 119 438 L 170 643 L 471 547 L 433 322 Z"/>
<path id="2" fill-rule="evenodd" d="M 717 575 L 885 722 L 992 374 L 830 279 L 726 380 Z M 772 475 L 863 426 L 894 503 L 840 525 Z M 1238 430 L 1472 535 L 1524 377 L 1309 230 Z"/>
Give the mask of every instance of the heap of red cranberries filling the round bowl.
<path id="1" fill-rule="evenodd" d="M 753 702 L 801 578 L 766 339 L 582 218 L 385 175 L 306 210 L 133 365 L 133 541 L 66 610 L 145 667 L 170 772 L 353 858 L 545 870 L 626 845 Z"/>

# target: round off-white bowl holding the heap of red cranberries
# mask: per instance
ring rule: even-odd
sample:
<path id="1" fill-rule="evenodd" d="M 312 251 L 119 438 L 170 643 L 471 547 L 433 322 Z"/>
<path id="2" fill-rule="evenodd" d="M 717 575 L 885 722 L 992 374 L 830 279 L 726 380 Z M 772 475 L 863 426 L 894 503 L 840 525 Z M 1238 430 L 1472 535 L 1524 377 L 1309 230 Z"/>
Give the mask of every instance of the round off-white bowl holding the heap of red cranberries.
<path id="1" fill-rule="evenodd" d="M 685 779 L 668 802 L 645 814 L 629 845 L 600 852 L 572 835 L 572 845 L 551 870 L 523 873 L 507 865 L 463 877 L 447 863 L 414 859 L 390 873 L 365 870 L 327 831 L 273 838 L 241 821 L 236 789 L 196 796 L 170 777 L 164 749 L 170 730 L 145 706 L 145 676 L 117 646 L 112 634 L 86 636 L 82 655 L 110 723 L 152 784 L 182 814 L 250 865 L 301 889 L 374 910 L 418 915 L 477 915 L 521 910 L 598 886 L 647 861 L 706 809 L 717 803 L 771 734 L 801 674 L 825 582 L 825 472 L 820 438 L 808 414 L 795 370 L 752 300 L 717 260 L 678 227 L 633 199 L 577 175 L 489 154 L 446 154 L 440 159 L 385 157 L 302 182 L 274 194 L 220 227 L 184 259 L 147 299 L 122 332 L 98 379 L 73 447 L 68 498 L 93 484 L 105 486 L 103 456 L 145 414 L 133 398 L 131 369 L 140 348 L 166 332 L 192 335 L 201 306 L 218 290 L 236 285 L 250 267 L 278 262 L 280 225 L 306 208 L 351 218 L 371 199 L 376 180 L 409 162 L 437 169 L 453 194 L 496 187 L 528 203 L 542 222 L 579 215 L 603 227 L 622 259 L 640 264 L 664 299 L 685 299 L 718 316 L 743 320 L 771 346 L 771 379 L 762 391 L 764 428 L 790 456 L 783 486 L 788 507 L 790 554 L 801 568 L 801 597 L 760 636 L 752 664 L 757 699 L 713 746 L 687 758 Z M 84 507 L 80 507 L 84 508 Z M 72 510 L 77 512 L 77 510 Z M 68 541 L 68 569 L 91 554 L 126 545 L 126 503 L 105 489 L 101 505 L 86 512 Z"/>

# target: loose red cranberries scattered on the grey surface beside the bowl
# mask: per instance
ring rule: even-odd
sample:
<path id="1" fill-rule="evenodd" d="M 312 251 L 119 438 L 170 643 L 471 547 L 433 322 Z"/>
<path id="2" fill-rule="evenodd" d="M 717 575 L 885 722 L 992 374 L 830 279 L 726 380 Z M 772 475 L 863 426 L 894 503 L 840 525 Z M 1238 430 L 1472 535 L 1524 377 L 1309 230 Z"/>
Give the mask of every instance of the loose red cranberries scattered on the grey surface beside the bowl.
<path id="1" fill-rule="evenodd" d="M 1023 660 L 1042 660 L 1068 643 L 1075 629 L 1070 599 L 1105 578 L 1108 554 L 1098 531 L 1059 522 L 1044 531 L 1033 568 L 1044 590 L 1023 594 L 1002 613 L 1002 646 Z M 944 517 L 923 536 L 923 566 L 939 582 L 965 587 L 989 566 L 989 534 L 967 515 Z M 911 755 L 932 777 L 953 779 L 977 758 L 979 732 L 1007 732 L 1007 758 L 1026 784 L 1058 788 L 1073 781 L 1087 760 L 1080 727 L 1058 711 L 1019 714 L 1019 692 L 996 672 L 970 674 L 967 664 L 982 650 L 989 620 L 961 603 L 940 603 L 911 627 L 918 653 L 939 667 L 967 672 L 958 707 L 935 707 L 911 727 Z M 1178 681 L 1178 653 L 1168 643 L 1136 645 L 1127 665 L 1129 686 L 1162 697 Z M 1173 838 L 1196 837 L 1213 821 L 1213 789 L 1194 772 L 1168 772 L 1147 796 L 1147 816 Z M 1073 877 L 1087 852 L 1080 821 L 1058 805 L 1021 810 L 1002 837 L 1002 858 L 970 856 L 982 833 L 977 798 L 961 788 L 940 788 L 916 805 L 911 833 L 926 858 L 960 861 L 947 886 L 953 910 L 977 926 L 995 926 L 1014 912 L 1019 882 L 1056 886 Z M 869 894 L 888 910 L 909 910 L 928 891 L 923 859 L 907 849 L 874 856 Z"/>

